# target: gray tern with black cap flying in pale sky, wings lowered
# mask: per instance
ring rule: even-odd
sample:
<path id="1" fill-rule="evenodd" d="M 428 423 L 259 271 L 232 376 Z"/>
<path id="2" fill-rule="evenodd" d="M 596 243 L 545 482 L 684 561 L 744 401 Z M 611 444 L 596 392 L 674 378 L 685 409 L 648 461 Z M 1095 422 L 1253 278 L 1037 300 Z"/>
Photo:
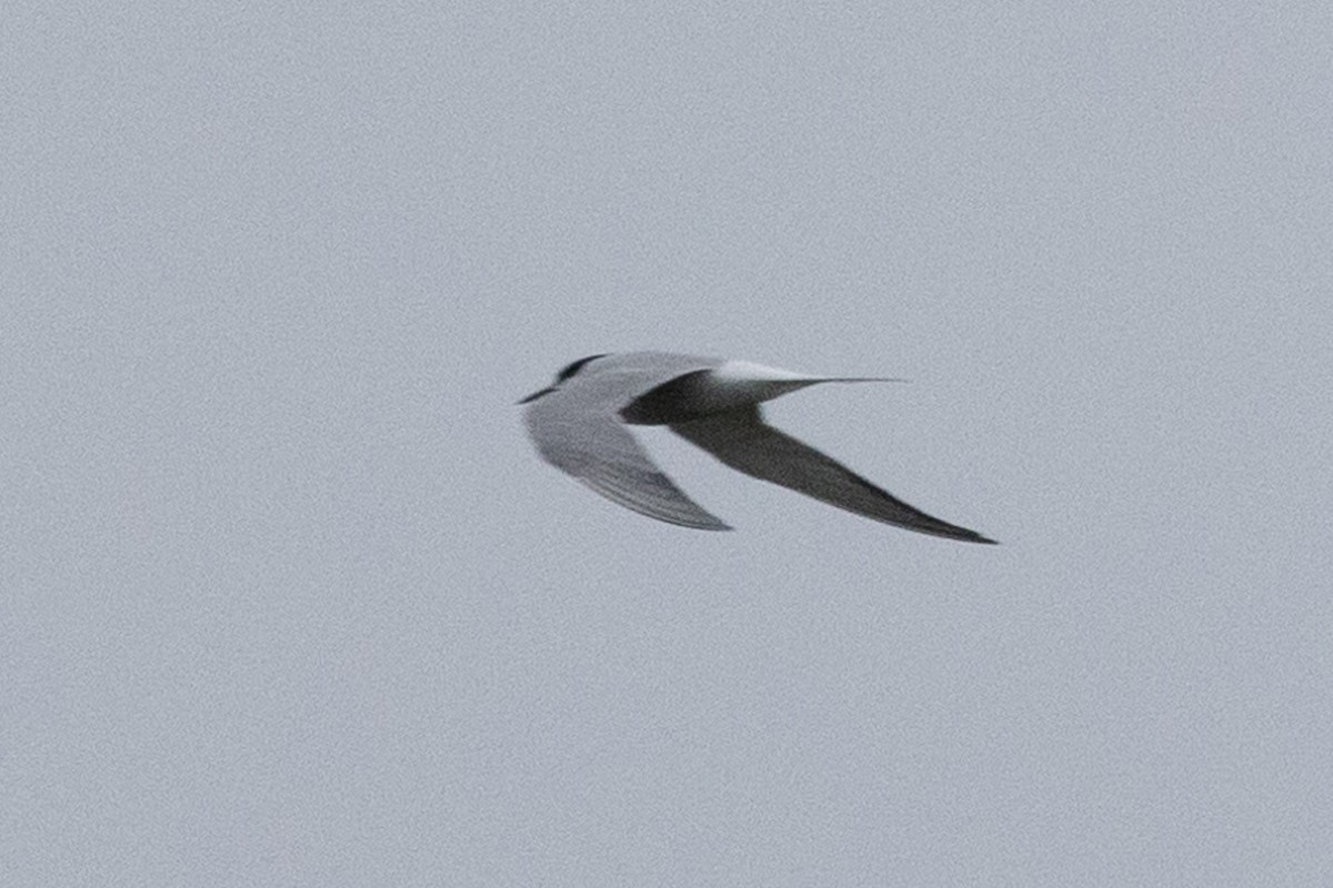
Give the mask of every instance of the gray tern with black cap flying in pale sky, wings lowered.
<path id="1" fill-rule="evenodd" d="M 730 530 L 659 469 L 627 426 L 666 426 L 722 463 L 857 515 L 934 537 L 994 543 L 897 499 L 840 462 L 764 422 L 760 403 L 824 382 L 748 361 L 668 351 L 593 354 L 556 374 L 527 405 L 543 459 L 615 503 L 682 527 Z"/>

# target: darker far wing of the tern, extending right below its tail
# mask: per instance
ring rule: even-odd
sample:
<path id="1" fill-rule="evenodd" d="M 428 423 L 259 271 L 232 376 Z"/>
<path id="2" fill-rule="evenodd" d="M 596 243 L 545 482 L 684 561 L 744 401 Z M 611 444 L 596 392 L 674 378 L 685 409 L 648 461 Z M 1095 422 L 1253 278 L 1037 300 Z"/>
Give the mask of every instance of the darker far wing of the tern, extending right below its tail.
<path id="1" fill-rule="evenodd" d="M 830 506 L 922 534 L 973 543 L 994 542 L 913 509 L 842 463 L 765 423 L 757 406 L 726 410 L 670 429 L 732 469 Z"/>

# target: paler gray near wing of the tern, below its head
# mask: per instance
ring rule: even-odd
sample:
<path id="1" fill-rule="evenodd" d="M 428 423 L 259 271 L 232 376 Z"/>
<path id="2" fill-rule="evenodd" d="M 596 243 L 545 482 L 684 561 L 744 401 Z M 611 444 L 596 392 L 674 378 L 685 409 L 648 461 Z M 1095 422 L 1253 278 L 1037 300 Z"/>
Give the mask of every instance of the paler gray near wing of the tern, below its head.
<path id="1" fill-rule="evenodd" d="M 533 401 L 524 419 L 547 462 L 607 499 L 682 527 L 730 530 L 653 465 L 597 391 L 552 391 Z"/>

